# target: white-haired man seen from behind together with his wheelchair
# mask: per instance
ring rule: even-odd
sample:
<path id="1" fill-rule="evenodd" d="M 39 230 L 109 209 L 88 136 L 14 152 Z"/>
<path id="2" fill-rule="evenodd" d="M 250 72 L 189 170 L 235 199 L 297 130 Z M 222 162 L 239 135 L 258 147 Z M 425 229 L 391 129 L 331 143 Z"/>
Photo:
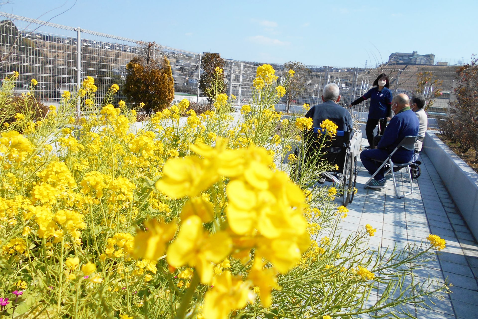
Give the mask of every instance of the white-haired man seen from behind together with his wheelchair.
<path id="1" fill-rule="evenodd" d="M 325 130 L 320 128 L 324 120 L 330 120 L 337 125 L 337 136 L 331 141 L 327 141 L 323 147 L 321 160 L 326 160 L 331 165 L 337 165 L 338 169 L 334 172 L 323 172 L 318 180 L 320 184 L 325 181 L 332 181 L 340 185 L 344 195 L 344 205 L 352 202 L 355 176 L 357 174 L 357 153 L 354 154 L 350 149 L 353 120 L 350 112 L 337 104 L 340 101 L 340 91 L 335 83 L 329 83 L 324 87 L 322 101 L 324 103 L 313 106 L 306 114 L 306 118 L 313 120 L 314 132 L 309 137 L 309 146 L 307 147 L 306 157 L 314 156 L 314 152 L 319 147 L 319 136 L 326 134 Z M 351 197 L 352 196 L 352 197 Z"/>

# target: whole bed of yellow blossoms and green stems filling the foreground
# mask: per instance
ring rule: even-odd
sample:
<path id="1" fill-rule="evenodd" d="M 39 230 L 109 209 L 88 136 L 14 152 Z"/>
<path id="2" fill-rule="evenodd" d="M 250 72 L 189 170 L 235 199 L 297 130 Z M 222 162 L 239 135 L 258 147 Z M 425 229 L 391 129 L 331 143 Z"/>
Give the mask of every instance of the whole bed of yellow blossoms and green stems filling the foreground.
<path id="1" fill-rule="evenodd" d="M 391 254 L 369 252 L 373 225 L 347 238 L 336 235 L 347 218 L 347 209 L 333 202 L 340 190 L 310 187 L 335 167 L 323 163 L 320 152 L 305 159 L 305 143 L 290 165 L 282 163 L 312 121 L 281 120 L 273 110 L 284 94 L 276 80 L 272 66 L 258 68 L 252 102 L 239 119 L 219 94 L 214 110 L 197 115 L 183 100 L 138 126 L 124 102 L 109 103 L 118 89 L 112 86 L 100 115 L 79 119 L 80 128 L 72 130 L 76 119 L 68 114 L 77 98 L 86 109 L 97 107 L 88 77 L 41 121 L 26 112 L 4 125 L 0 314 L 406 314 L 400 305 L 446 290 L 443 283 L 408 276 L 445 247 L 437 236 Z M 11 95 L 8 88 L 2 86 L 0 97 Z M 328 120 L 322 127 L 327 134 L 320 145 L 337 129 Z M 382 298 L 370 305 L 379 283 Z"/>

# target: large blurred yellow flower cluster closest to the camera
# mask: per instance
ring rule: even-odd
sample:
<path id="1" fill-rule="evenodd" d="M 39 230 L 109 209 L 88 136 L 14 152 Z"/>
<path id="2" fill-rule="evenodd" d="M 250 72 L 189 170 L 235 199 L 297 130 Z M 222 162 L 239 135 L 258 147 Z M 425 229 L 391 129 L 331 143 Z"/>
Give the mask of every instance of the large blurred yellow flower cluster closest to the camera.
<path id="1" fill-rule="evenodd" d="M 298 264 L 301 253 L 310 245 L 302 191 L 284 173 L 271 171 L 272 159 L 266 150 L 255 146 L 230 150 L 226 146 L 227 141 L 220 139 L 214 148 L 191 145 L 191 150 L 201 157 L 168 160 L 163 167 L 163 178 L 156 182 L 156 188 L 170 198 L 190 198 L 182 209 L 181 228 L 167 248 L 166 259 L 175 268 L 194 267 L 202 283 L 213 283 L 203 310 L 211 318 L 222 318 L 217 317 L 217 311 L 228 313 L 236 306 L 244 307 L 251 301 L 244 297 L 252 296 L 251 284 L 260 287 L 261 302 L 269 306 L 270 293 L 277 287 L 277 273 L 285 273 Z M 226 186 L 229 228 L 210 233 L 203 224 L 210 222 L 215 212 L 209 199 L 199 195 L 224 178 L 229 180 Z M 176 222 L 150 221 L 145 226 L 148 231 L 137 235 L 135 256 L 158 259 L 174 236 Z M 251 249 L 255 249 L 255 259 L 248 280 L 222 271 L 230 254 L 249 258 Z M 273 268 L 264 269 L 262 258 L 271 262 Z M 215 273 L 219 275 L 214 277 Z M 238 303 L 225 296 L 231 289 L 237 289 L 238 295 L 233 299 Z M 221 298 L 227 306 L 214 309 L 211 305 Z"/>

